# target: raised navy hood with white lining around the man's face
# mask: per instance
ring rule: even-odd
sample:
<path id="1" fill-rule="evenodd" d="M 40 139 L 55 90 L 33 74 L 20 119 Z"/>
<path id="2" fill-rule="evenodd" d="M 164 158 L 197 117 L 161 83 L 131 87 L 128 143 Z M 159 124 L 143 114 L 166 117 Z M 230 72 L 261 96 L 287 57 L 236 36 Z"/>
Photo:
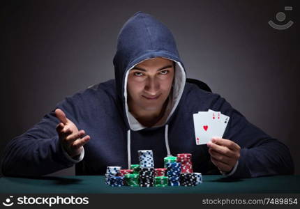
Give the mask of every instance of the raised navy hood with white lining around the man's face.
<path id="1" fill-rule="evenodd" d="M 146 127 L 128 111 L 128 72 L 138 63 L 155 57 L 163 57 L 176 63 L 172 95 L 169 96 L 167 105 L 169 111 L 165 112 L 164 123 L 158 125 L 162 126 L 170 119 L 179 103 L 186 83 L 186 72 L 174 37 L 167 26 L 147 13 L 137 12 L 121 28 L 117 39 L 117 52 L 113 60 L 117 95 L 121 98 L 126 125 L 130 130 L 142 130 Z"/>

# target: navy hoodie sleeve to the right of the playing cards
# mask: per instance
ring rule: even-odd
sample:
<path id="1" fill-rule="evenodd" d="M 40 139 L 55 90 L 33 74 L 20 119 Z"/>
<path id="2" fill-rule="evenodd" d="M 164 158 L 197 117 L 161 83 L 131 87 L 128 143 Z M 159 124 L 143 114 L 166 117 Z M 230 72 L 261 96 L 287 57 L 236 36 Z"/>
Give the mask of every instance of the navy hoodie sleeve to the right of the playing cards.
<path id="1" fill-rule="evenodd" d="M 231 178 L 294 173 L 294 162 L 285 144 L 247 121 L 220 95 L 213 102 L 213 110 L 230 116 L 223 139 L 230 139 L 241 147 L 239 163 Z"/>

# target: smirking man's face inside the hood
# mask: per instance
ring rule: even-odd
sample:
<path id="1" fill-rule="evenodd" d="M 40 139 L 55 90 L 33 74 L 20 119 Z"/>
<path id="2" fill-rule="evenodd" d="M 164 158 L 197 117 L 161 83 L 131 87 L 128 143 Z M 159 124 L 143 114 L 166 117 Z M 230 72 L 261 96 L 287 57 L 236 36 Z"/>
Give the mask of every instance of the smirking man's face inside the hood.
<path id="1" fill-rule="evenodd" d="M 173 61 L 156 57 L 135 65 L 128 75 L 128 105 L 131 110 L 156 111 L 163 107 L 174 79 Z"/>

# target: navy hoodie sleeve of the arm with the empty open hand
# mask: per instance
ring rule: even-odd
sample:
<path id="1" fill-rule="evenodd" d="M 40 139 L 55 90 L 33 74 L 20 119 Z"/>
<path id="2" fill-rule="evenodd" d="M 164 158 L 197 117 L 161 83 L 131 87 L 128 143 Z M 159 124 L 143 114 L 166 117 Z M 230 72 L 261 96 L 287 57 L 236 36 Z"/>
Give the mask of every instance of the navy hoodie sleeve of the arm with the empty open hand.
<path id="1" fill-rule="evenodd" d="M 78 124 L 76 118 L 79 113 L 72 98 L 60 102 L 57 108 L 62 109 L 75 125 Z M 42 176 L 80 162 L 84 152 L 75 160 L 63 150 L 56 131 L 58 123 L 59 119 L 53 110 L 27 132 L 9 141 L 3 153 L 3 175 Z"/>

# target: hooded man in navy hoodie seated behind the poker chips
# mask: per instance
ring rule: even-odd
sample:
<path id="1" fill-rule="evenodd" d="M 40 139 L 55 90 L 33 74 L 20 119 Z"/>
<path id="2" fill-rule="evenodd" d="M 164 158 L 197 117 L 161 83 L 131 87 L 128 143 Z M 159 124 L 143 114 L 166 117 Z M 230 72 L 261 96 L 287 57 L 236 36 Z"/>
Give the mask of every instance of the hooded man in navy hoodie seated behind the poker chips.
<path id="1" fill-rule="evenodd" d="M 253 178 L 294 172 L 287 146 L 249 123 L 216 93 L 186 83 L 172 33 L 135 13 L 124 24 L 114 56 L 115 79 L 66 98 L 6 147 L 3 174 L 38 176 L 76 164 L 77 174 L 137 164 L 137 150 L 163 157 L 192 153 L 194 171 Z M 230 116 L 223 139 L 195 144 L 193 114 Z"/>

